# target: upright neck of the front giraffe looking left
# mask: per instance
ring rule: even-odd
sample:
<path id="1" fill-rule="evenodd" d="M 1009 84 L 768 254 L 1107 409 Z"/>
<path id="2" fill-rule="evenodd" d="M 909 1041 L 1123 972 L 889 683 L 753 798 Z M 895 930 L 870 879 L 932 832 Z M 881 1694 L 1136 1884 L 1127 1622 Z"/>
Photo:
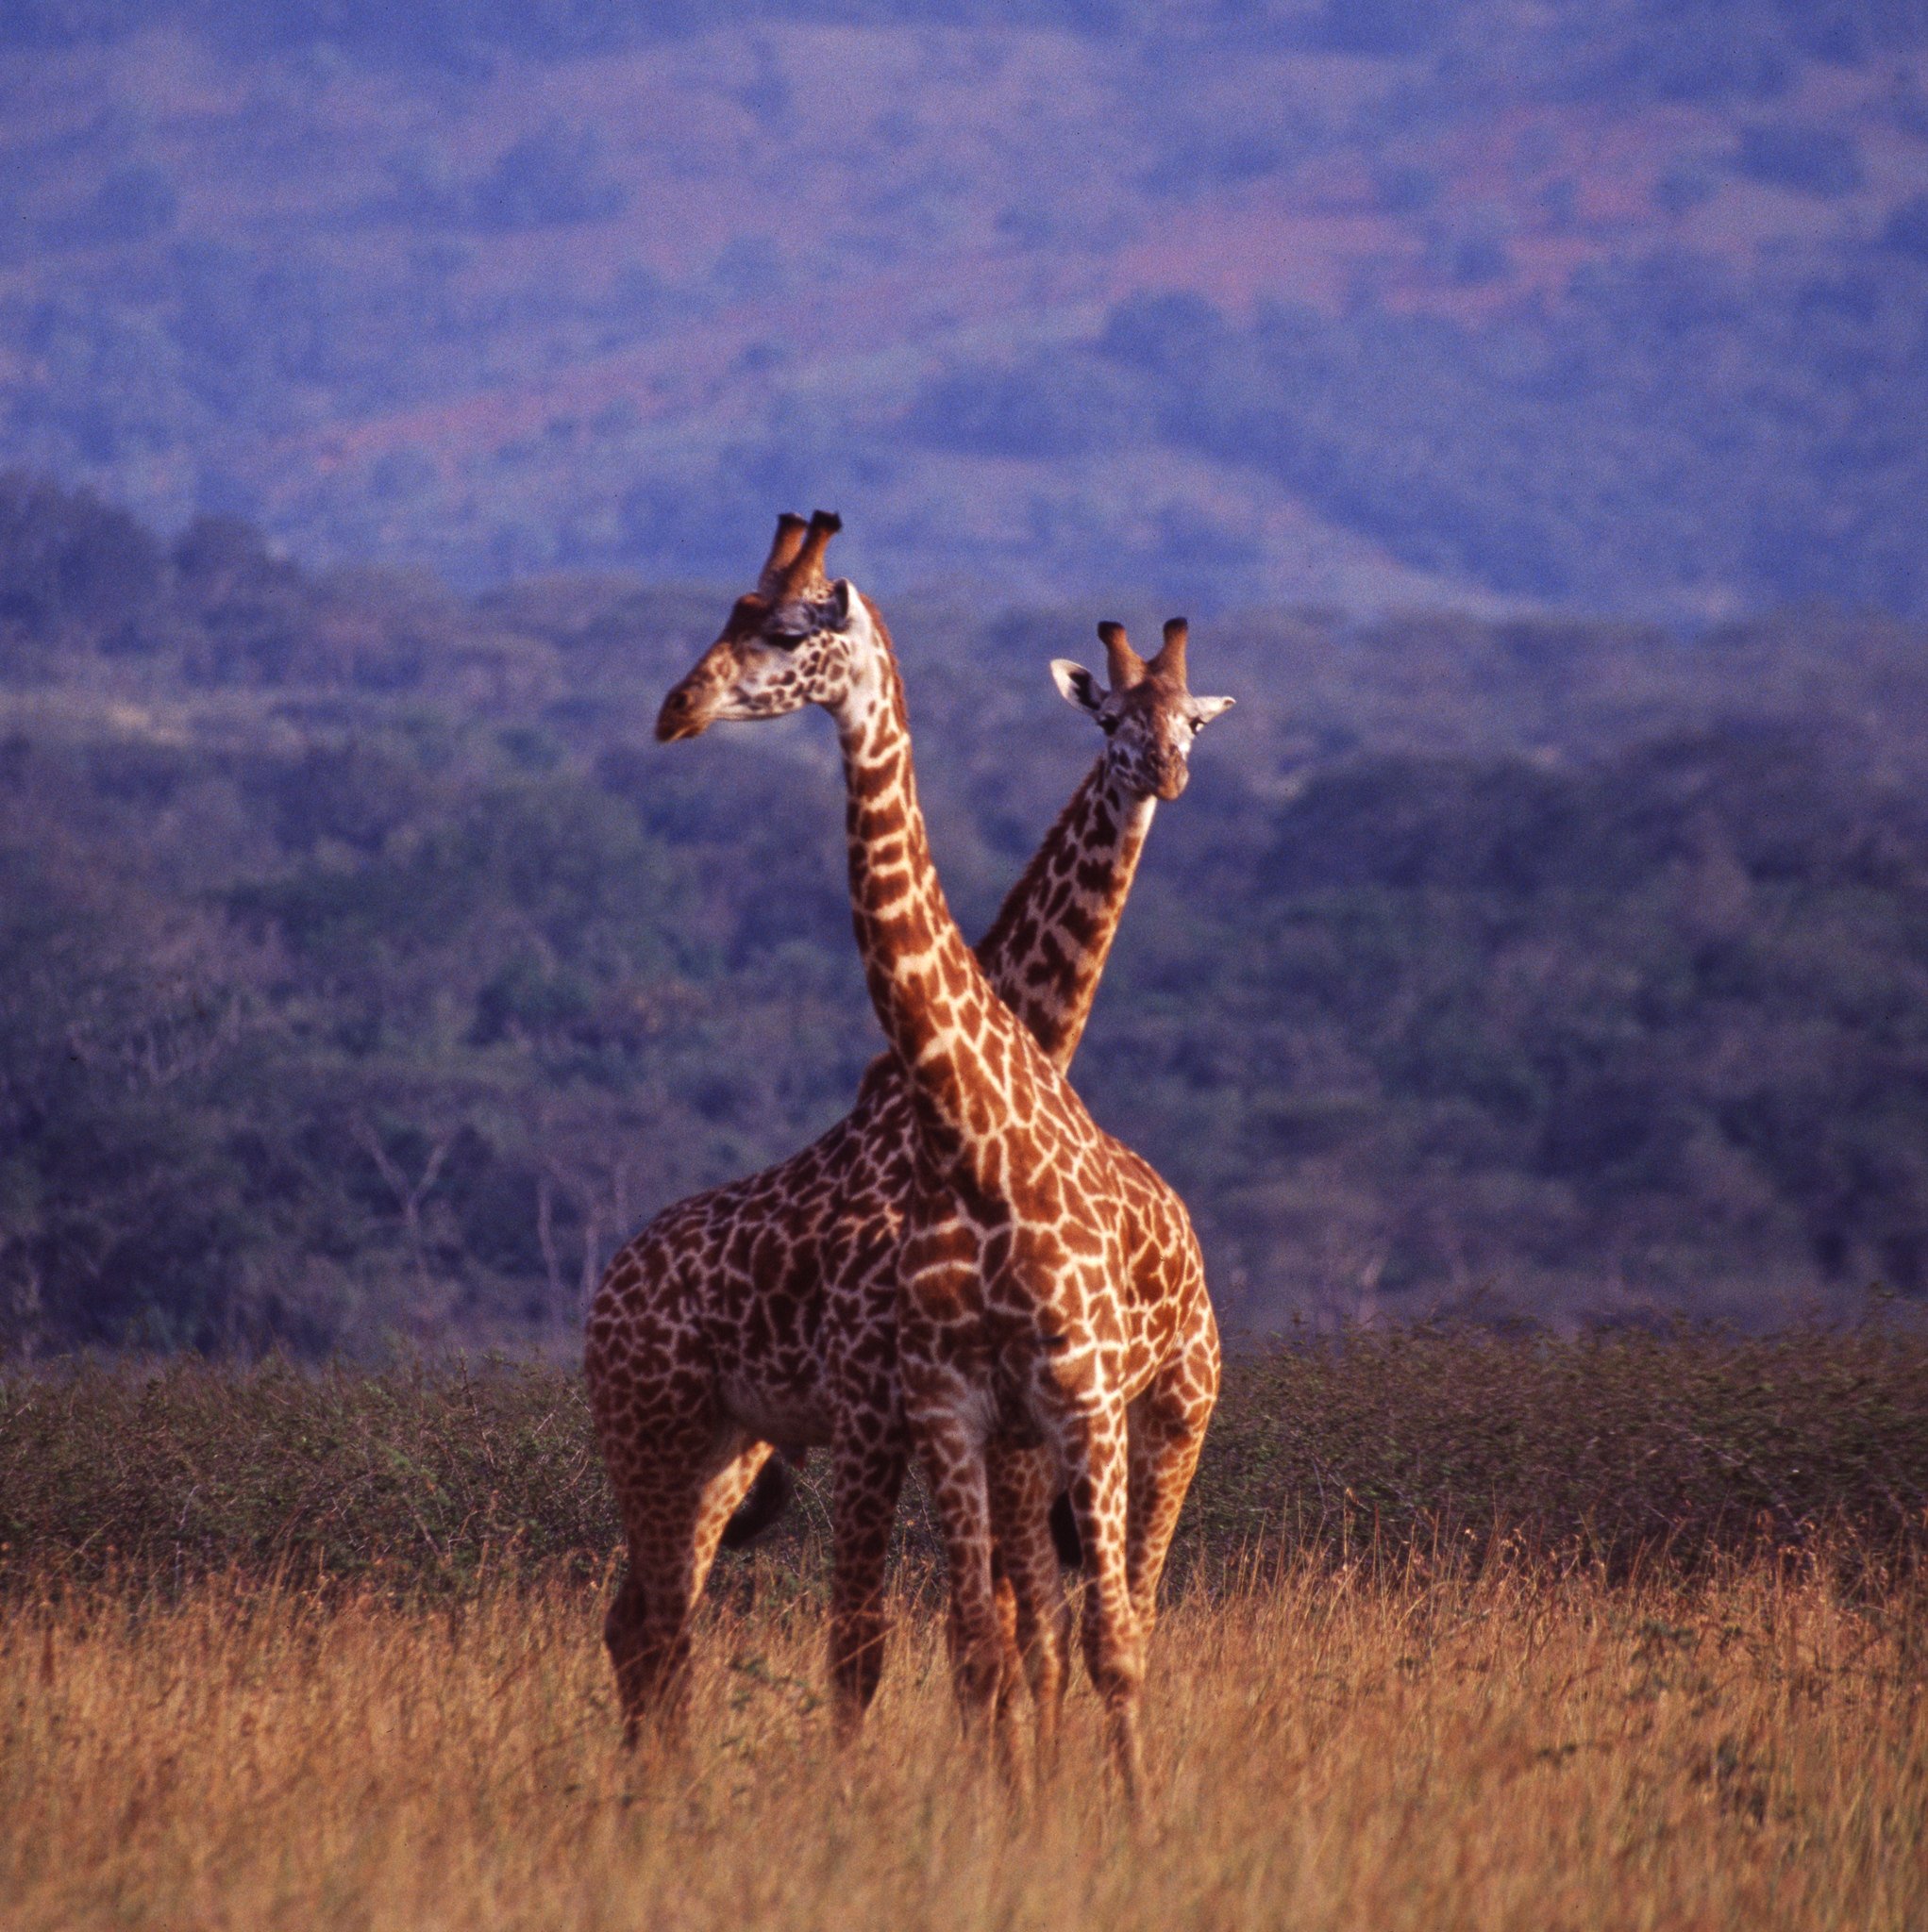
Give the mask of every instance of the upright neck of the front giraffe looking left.
<path id="1" fill-rule="evenodd" d="M 833 707 L 864 980 L 910 1082 L 925 1151 L 993 1173 L 1003 1165 L 999 1068 L 1008 1078 L 1026 1041 L 964 943 L 931 864 L 896 653 L 867 601 L 865 611 L 873 659 Z"/>

